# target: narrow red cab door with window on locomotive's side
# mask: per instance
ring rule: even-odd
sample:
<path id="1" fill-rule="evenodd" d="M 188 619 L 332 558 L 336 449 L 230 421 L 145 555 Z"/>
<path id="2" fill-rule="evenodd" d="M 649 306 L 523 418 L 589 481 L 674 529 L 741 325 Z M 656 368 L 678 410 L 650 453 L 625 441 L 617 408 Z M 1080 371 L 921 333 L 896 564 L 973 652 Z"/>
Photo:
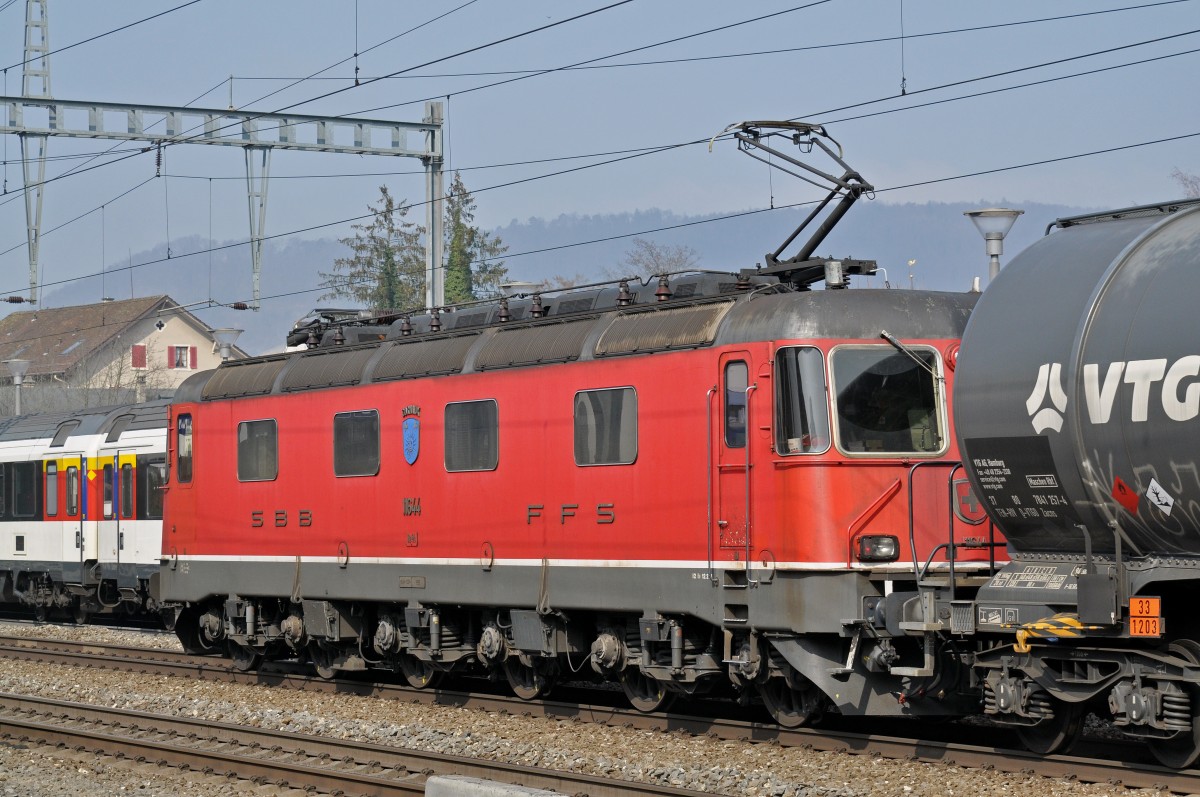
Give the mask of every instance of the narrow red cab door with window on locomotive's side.
<path id="1" fill-rule="evenodd" d="M 716 395 L 710 398 L 713 444 L 712 523 L 714 558 L 745 561 L 750 550 L 750 481 L 746 467 L 750 355 L 721 355 Z"/>

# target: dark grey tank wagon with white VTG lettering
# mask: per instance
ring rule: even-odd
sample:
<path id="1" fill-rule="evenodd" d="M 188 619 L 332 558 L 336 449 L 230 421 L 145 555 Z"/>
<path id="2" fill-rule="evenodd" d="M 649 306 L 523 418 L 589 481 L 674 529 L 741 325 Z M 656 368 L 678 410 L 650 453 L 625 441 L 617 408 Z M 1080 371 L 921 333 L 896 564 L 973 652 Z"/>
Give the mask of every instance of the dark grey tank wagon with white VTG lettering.
<path id="1" fill-rule="evenodd" d="M 976 664 L 986 712 L 1034 749 L 1096 709 L 1184 767 L 1200 755 L 1200 205 L 1052 228 L 962 341 L 956 432 L 1012 556 L 962 623 L 1015 635 Z"/>

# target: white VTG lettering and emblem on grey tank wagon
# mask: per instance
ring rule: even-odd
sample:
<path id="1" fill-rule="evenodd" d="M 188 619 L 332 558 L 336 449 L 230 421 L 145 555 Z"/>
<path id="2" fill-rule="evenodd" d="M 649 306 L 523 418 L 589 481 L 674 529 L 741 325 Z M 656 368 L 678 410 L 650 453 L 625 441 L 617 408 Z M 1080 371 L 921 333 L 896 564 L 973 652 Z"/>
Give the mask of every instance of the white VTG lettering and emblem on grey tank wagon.
<path id="1" fill-rule="evenodd" d="M 1187 421 L 1200 415 L 1200 354 L 1181 356 L 1175 362 L 1165 358 L 1157 360 L 1129 360 L 1109 362 L 1100 373 L 1100 365 L 1084 365 L 1084 401 L 1087 419 L 1093 424 L 1106 424 L 1112 417 L 1121 385 L 1129 385 L 1129 420 L 1135 424 L 1150 418 L 1150 402 L 1157 397 L 1168 418 Z M 1157 396 L 1156 396 L 1157 394 Z M 1049 400 L 1050 406 L 1046 405 Z M 1063 413 L 1067 411 L 1067 392 L 1062 388 L 1062 364 L 1043 362 L 1033 392 L 1025 401 L 1033 431 L 1040 435 L 1048 429 L 1062 431 Z"/>

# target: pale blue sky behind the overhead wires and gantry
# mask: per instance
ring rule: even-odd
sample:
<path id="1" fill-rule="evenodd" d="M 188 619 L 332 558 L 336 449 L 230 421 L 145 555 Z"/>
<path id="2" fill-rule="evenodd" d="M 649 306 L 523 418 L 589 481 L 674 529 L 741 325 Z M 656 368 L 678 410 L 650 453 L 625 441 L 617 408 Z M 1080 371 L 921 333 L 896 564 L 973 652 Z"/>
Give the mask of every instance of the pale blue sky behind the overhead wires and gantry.
<path id="1" fill-rule="evenodd" d="M 49 0 L 53 49 L 96 36 L 184 0 Z M 52 88 L 64 100 L 226 107 L 233 74 L 233 103 L 276 110 L 350 84 L 353 61 L 326 72 L 337 80 L 310 80 L 262 102 L 284 85 L 266 78 L 300 78 L 408 28 L 461 6 L 466 0 L 398 2 L 383 0 L 202 0 L 160 19 L 52 55 Z M 364 78 L 396 72 L 606 5 L 551 0 L 475 0 L 444 19 L 359 58 Z M 416 74 L 562 67 L 612 53 L 798 8 L 800 2 L 752 4 L 710 0 L 635 0 L 551 30 L 455 58 Z M 356 114 L 418 120 L 422 104 L 390 107 L 450 94 L 450 167 L 481 190 L 553 172 L 566 164 L 474 169 L 514 161 L 606 152 L 672 144 L 712 136 L 744 119 L 803 116 L 828 124 L 847 161 L 876 187 L 953 178 L 1033 161 L 1129 146 L 1200 133 L 1195 84 L 1200 54 L 1086 77 L 1014 89 L 928 108 L 847 119 L 905 108 L 982 90 L 1045 80 L 1075 72 L 1129 64 L 1200 48 L 1200 0 L 1115 11 L 1090 17 L 1016 24 L 973 32 L 937 31 L 1021 23 L 1127 6 L 1127 2 L 965 2 L 962 0 L 829 0 L 772 19 L 654 47 L 598 64 L 731 55 L 786 48 L 894 38 L 899 41 L 821 47 L 745 58 L 622 68 L 576 70 L 532 77 L 509 85 L 455 95 L 500 79 L 428 77 L 391 79 L 342 91 L 295 108 L 314 114 Z M 6 6 L 6 7 L 5 7 Z M 0 66 L 13 66 L 4 94 L 19 95 L 25 0 L 0 0 Z M 902 14 L 901 14 L 902 8 Z M 356 23 L 355 23 L 356 13 Z M 1147 40 L 1176 36 L 1152 44 Z M 1118 52 L 1057 66 L 1015 72 L 956 88 L 936 86 L 1069 59 L 1098 50 Z M 898 97 L 901 77 L 908 95 Z M 223 83 L 224 82 L 224 83 Z M 211 92 L 205 94 L 210 89 Z M 203 96 L 202 96 L 203 95 Z M 892 97 L 886 102 L 870 102 Z M 870 103 L 852 110 L 834 110 Z M 0 294 L 24 293 L 28 264 L 20 149 L 7 138 L 4 169 L 10 194 L 0 197 Z M 114 142 L 52 139 L 55 156 L 94 152 Z M 121 145 L 127 146 L 127 145 Z M 53 163 L 59 174 L 76 161 Z M 1175 198 L 1171 170 L 1200 172 L 1200 137 L 1138 146 L 1000 174 L 930 186 L 881 191 L 876 202 L 930 199 L 978 205 L 1004 202 L 1092 206 Z M 401 197 L 424 196 L 418 175 L 289 179 L 292 175 L 415 172 L 404 158 L 277 152 L 272 161 L 268 234 L 302 229 L 360 215 L 386 182 Z M 155 172 L 152 155 L 54 182 L 46 191 L 43 230 L 106 204 L 103 214 L 46 232 L 44 280 L 100 270 L 103 259 L 124 264 L 170 238 L 196 234 L 217 240 L 247 234 L 244 158 L 232 148 L 178 146 L 167 151 L 166 179 L 121 199 L 118 194 Z M 185 179 L 186 178 L 186 179 Z M 214 179 L 208 178 L 235 178 Z M 522 186 L 479 191 L 479 221 L 499 226 L 512 218 L 598 214 L 658 206 L 680 214 L 738 211 L 814 198 L 815 190 L 786 176 L 768 181 L 766 167 L 718 143 L 634 158 Z M 210 191 L 212 211 L 210 214 Z M 422 214 L 419 214 L 422 215 Z M 961 217 L 948 223 L 966 223 Z M 346 227 L 306 236 L 336 238 Z M 16 247 L 16 248 L 13 248 Z M 749 242 L 750 257 L 763 244 Z M 248 256 L 247 256 L 248 259 Z M 169 268 L 164 266 L 164 268 Z M 181 296 L 186 301 L 188 298 Z"/>

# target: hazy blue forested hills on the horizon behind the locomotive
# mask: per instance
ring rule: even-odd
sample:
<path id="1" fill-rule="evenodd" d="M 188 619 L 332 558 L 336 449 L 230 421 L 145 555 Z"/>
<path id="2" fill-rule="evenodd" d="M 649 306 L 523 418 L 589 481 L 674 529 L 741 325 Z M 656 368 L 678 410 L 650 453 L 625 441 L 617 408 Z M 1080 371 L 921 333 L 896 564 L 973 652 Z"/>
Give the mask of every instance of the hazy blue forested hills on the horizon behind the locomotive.
<path id="1" fill-rule="evenodd" d="M 943 203 L 892 205 L 860 202 L 842 220 L 817 254 L 876 259 L 884 266 L 893 286 L 910 284 L 907 262 L 914 259 L 912 281 L 918 288 L 965 290 L 973 276 L 986 275 L 983 239 L 964 210 L 1009 205 L 1004 200 L 980 200 L 971 205 Z M 1084 212 L 1080 208 L 1013 203 L 1025 210 L 1004 244 L 1004 259 L 1039 238 L 1049 222 Z M 552 220 L 512 221 L 496 229 L 508 245 L 506 265 L 511 281 L 538 282 L 554 276 L 599 278 L 605 272 L 624 271 L 620 262 L 635 238 L 655 244 L 683 245 L 695 250 L 700 268 L 736 270 L 761 263 L 776 248 L 803 216 L 798 210 L 758 212 L 732 220 L 677 216 L 652 209 L 625 214 L 577 216 Z M 672 229 L 664 229 L 672 228 Z M 661 230 L 661 232 L 655 232 Z M 598 241 L 587 244 L 587 241 Z M 583 244 L 568 246 L 572 244 Z M 246 300 L 251 295 L 250 253 L 235 246 L 209 254 L 208 239 L 184 238 L 172 241 L 172 258 L 131 271 L 71 282 L 47 290 L 44 306 L 62 307 L 98 301 L 101 296 L 127 299 L 131 295 L 166 293 L 181 305 L 198 305 L 194 312 L 211 326 L 245 329 L 239 344 L 260 354 L 278 350 L 292 324 L 318 306 L 344 306 L 344 301 L 320 299 L 318 272 L 330 270 L 347 247 L 335 240 L 269 241 L 263 247 L 259 312 L 208 308 L 218 302 Z M 798 242 L 785 256 L 793 252 Z M 563 247 L 563 248 L 554 248 Z M 550 251 L 540 251 L 550 250 Z M 138 252 L 125 263 L 149 263 L 167 254 L 166 245 Z M 882 276 L 875 278 L 882 286 Z"/>

